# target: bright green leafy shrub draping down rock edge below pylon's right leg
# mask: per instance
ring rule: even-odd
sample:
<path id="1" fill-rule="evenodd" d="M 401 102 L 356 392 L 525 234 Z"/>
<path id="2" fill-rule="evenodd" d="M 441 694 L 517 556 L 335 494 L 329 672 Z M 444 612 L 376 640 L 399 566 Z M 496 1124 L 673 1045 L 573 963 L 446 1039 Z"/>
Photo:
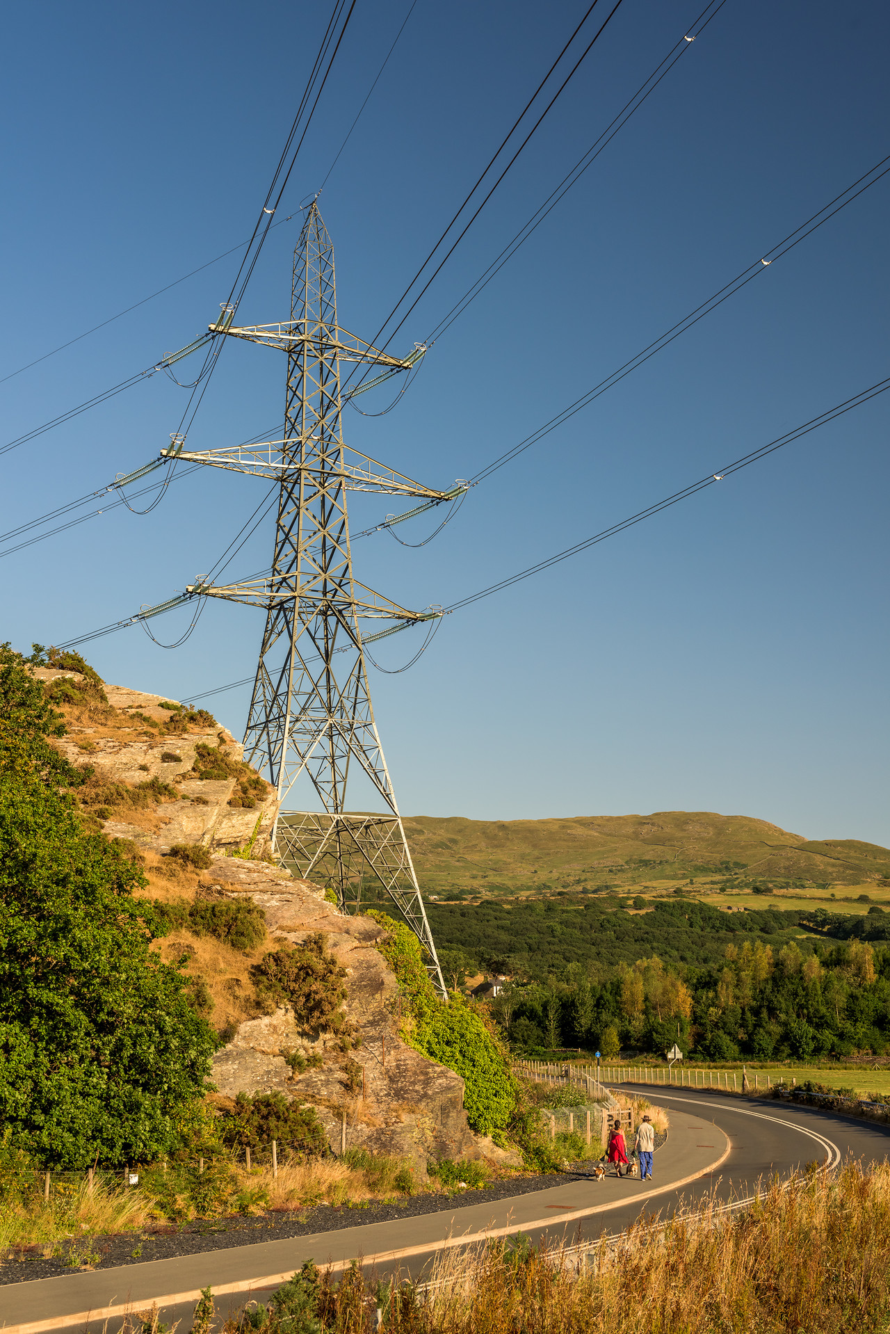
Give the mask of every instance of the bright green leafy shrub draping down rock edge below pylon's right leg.
<path id="1" fill-rule="evenodd" d="M 483 1011 L 455 992 L 448 1003 L 436 996 L 423 963 L 420 942 L 384 912 L 368 914 L 386 927 L 378 950 L 392 967 L 411 1022 L 404 1039 L 416 1051 L 462 1075 L 467 1121 L 479 1134 L 503 1130 L 515 1106 L 515 1090 L 506 1051 L 488 1027 Z"/>

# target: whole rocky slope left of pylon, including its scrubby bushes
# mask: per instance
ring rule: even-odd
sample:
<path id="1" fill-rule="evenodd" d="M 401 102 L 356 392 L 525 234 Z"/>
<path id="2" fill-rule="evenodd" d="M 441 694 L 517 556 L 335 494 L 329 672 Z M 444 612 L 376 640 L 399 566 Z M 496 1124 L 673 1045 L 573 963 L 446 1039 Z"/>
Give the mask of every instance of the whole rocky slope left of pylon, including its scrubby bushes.
<path id="1" fill-rule="evenodd" d="M 270 856 L 276 796 L 232 734 L 67 658 L 28 668 L 64 718 L 52 746 L 84 779 L 72 792 L 85 828 L 139 863 L 135 898 L 157 914 L 151 950 L 184 968 L 217 1034 L 216 1106 L 283 1094 L 314 1110 L 335 1150 L 344 1135 L 414 1159 L 420 1177 L 430 1158 L 512 1162 L 470 1129 L 471 1078 L 464 1089 L 404 1041 L 410 1013 L 378 948 L 386 927 L 339 912 Z"/>

